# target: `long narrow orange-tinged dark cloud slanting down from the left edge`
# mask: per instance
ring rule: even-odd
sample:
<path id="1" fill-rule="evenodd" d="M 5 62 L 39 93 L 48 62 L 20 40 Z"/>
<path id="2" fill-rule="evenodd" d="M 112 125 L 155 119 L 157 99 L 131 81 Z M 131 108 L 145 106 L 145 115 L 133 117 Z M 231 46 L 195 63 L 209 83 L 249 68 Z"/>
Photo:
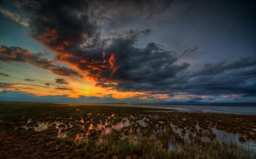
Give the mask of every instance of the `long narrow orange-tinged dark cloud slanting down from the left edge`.
<path id="1" fill-rule="evenodd" d="M 26 62 L 36 67 L 44 68 L 52 71 L 54 74 L 62 76 L 76 76 L 81 77 L 79 72 L 71 68 L 55 65 L 55 62 L 46 58 L 42 58 L 42 53 L 32 53 L 20 47 L 7 47 L 0 45 L 0 61 L 4 62 Z"/>

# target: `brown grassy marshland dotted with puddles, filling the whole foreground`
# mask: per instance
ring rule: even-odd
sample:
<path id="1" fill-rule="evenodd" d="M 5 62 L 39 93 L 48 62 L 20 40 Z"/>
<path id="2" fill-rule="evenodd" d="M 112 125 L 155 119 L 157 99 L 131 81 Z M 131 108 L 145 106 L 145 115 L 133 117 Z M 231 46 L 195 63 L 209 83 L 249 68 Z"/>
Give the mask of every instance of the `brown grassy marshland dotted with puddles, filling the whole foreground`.
<path id="1" fill-rule="evenodd" d="M 0 102 L 0 158 L 256 158 L 256 116 Z"/>

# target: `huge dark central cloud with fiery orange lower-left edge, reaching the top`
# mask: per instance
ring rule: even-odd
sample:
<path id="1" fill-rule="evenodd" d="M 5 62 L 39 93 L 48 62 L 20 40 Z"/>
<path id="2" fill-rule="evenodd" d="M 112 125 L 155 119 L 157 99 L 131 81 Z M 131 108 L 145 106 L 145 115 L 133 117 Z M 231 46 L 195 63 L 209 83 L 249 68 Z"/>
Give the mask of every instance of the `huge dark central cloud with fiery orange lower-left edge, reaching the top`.
<path id="1" fill-rule="evenodd" d="M 52 49 L 56 53 L 56 60 L 77 68 L 100 87 L 137 91 L 149 90 L 159 81 L 174 78 L 189 64 L 176 65 L 177 55 L 154 42 L 138 48 L 139 38 L 150 33 L 150 29 L 126 30 L 120 37 L 106 39 L 101 36 L 97 21 L 93 22 L 91 18 L 104 16 L 104 12 L 113 16 L 111 8 L 123 8 L 119 10 L 121 13 L 151 16 L 160 14 L 171 3 L 172 1 L 28 1 L 17 2 L 17 6 L 29 19 L 30 36 Z M 115 5 L 118 7 L 113 7 Z M 109 10 L 105 11 L 104 8 Z M 54 69 L 51 71 L 54 72 Z"/>

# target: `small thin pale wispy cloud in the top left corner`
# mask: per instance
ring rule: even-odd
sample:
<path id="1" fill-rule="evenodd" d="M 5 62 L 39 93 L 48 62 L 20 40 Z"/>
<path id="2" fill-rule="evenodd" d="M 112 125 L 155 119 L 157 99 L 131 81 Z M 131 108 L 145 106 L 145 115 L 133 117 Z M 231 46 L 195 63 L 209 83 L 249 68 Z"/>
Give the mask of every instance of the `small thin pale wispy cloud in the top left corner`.
<path id="1" fill-rule="evenodd" d="M 22 19 L 19 14 L 6 10 L 5 8 L 2 7 L 0 7 L 0 13 L 6 16 L 7 18 L 10 18 L 14 22 L 17 22 L 20 25 L 24 25 L 25 27 L 28 27 L 28 22 Z"/>

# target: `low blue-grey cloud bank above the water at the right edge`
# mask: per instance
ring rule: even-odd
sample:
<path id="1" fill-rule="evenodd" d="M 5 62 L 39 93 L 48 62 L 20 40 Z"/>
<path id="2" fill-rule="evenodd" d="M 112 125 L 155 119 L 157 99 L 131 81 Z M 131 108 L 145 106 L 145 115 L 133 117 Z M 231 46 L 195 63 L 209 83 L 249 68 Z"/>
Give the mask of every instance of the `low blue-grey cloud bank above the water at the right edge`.
<path id="1" fill-rule="evenodd" d="M 171 96 L 181 92 L 188 95 L 256 96 L 255 59 L 251 57 L 225 62 L 222 60 L 214 64 L 208 63 L 197 72 L 179 72 L 172 78 L 158 81 L 123 81 L 113 87 L 119 91 L 151 91 L 152 94 L 167 93 Z"/>

